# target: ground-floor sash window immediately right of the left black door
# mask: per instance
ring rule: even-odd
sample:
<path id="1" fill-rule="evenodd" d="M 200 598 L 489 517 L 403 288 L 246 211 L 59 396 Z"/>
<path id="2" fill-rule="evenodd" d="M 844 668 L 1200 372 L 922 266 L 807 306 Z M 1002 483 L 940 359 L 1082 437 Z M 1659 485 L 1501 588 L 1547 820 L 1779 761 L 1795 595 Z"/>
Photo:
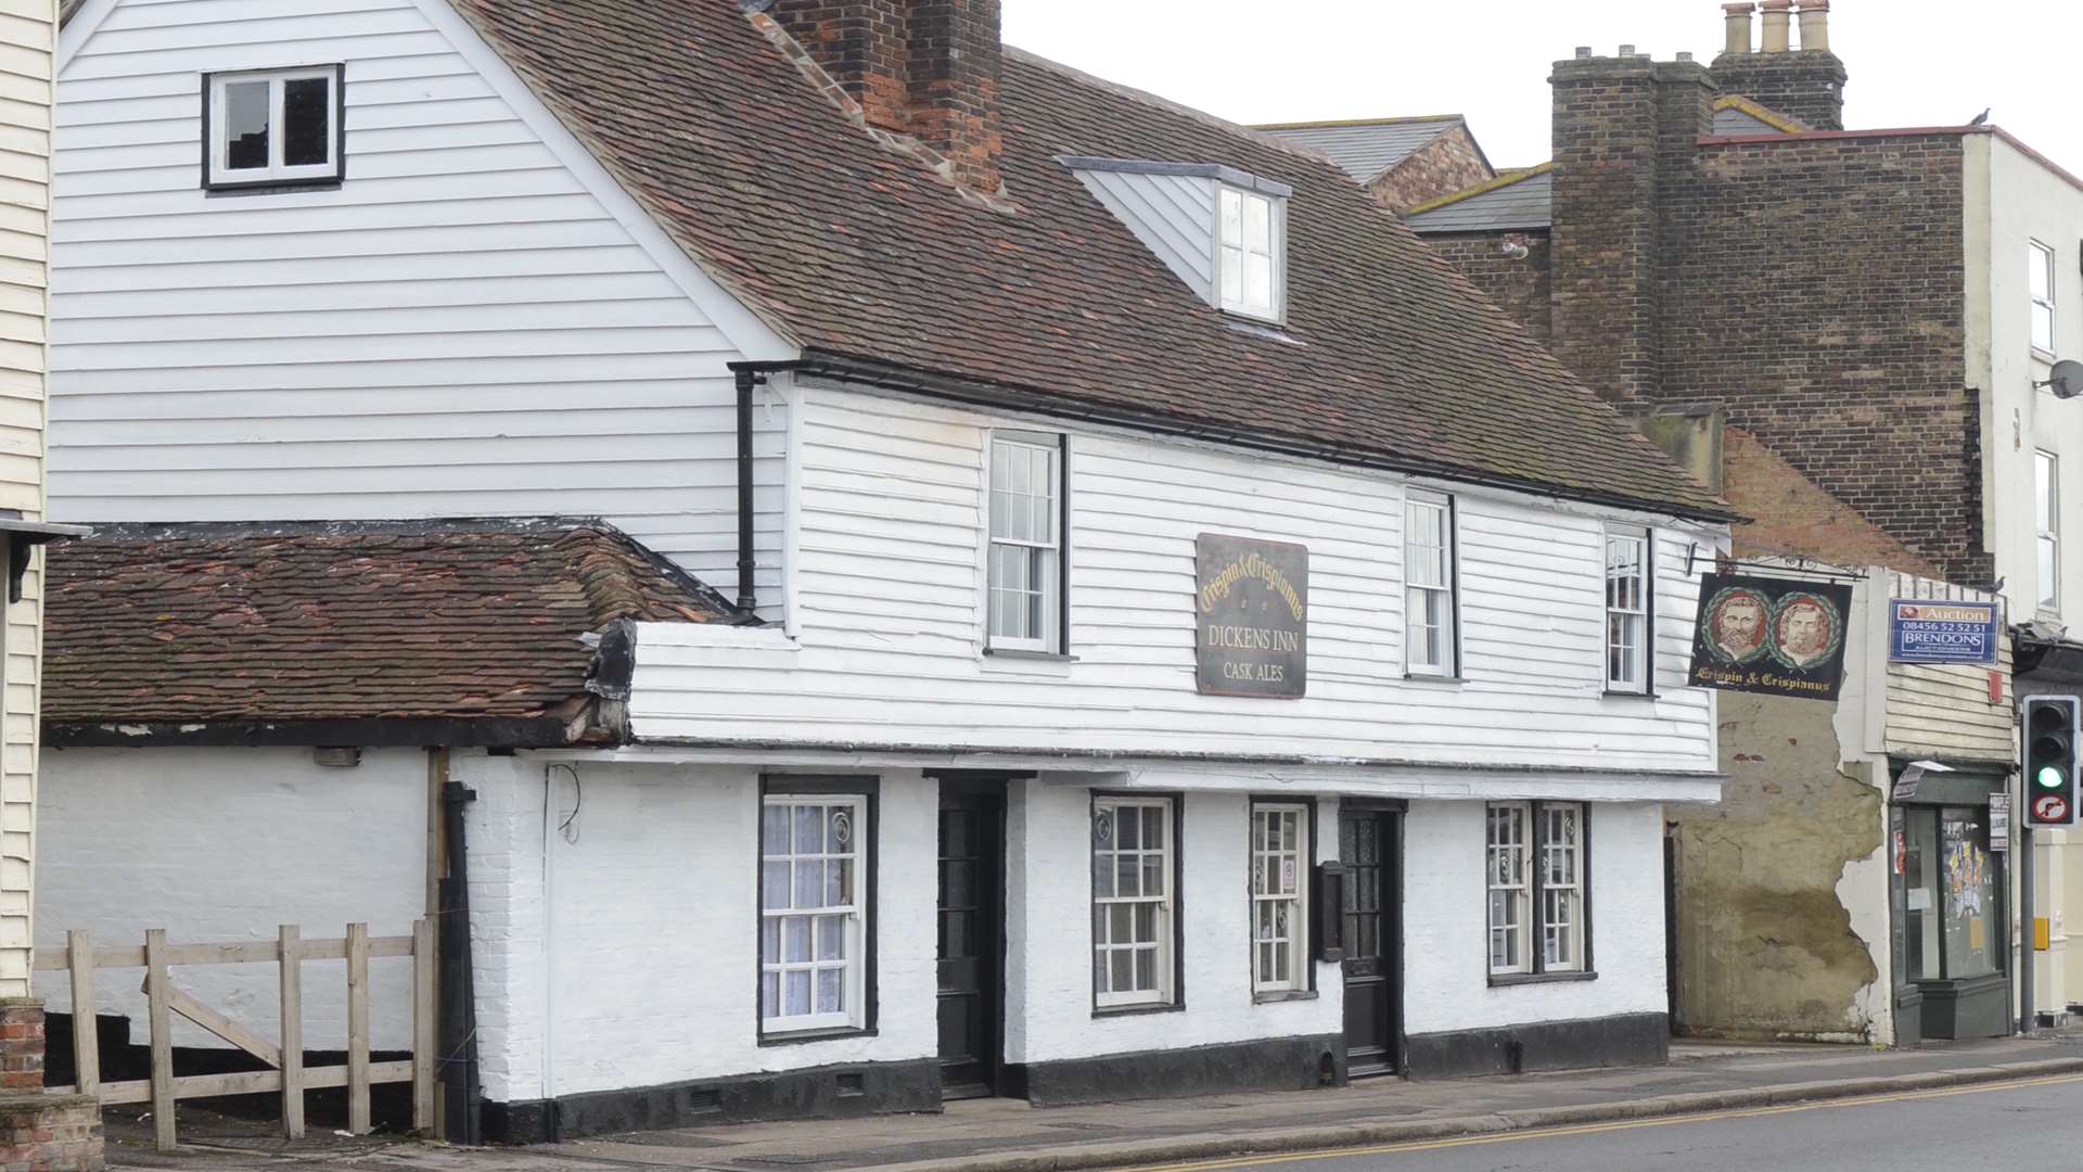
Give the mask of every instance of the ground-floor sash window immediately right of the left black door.
<path id="1" fill-rule="evenodd" d="M 1091 997 L 1100 1009 L 1177 999 L 1177 799 L 1091 799 Z"/>

